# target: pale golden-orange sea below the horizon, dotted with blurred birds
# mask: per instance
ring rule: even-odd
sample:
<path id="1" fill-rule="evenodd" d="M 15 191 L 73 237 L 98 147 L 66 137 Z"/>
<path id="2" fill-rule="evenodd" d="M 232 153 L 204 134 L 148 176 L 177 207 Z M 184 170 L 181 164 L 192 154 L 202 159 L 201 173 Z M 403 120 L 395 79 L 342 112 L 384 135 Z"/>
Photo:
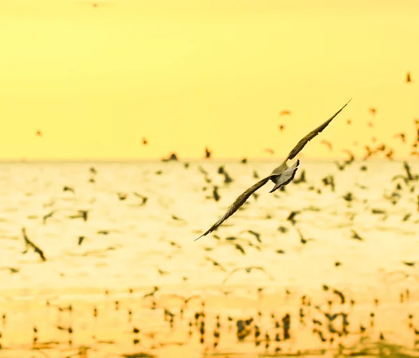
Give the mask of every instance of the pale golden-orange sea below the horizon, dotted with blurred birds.
<path id="1" fill-rule="evenodd" d="M 194 242 L 274 164 L 2 164 L 0 357 L 413 354 L 409 165 L 304 162 Z"/>

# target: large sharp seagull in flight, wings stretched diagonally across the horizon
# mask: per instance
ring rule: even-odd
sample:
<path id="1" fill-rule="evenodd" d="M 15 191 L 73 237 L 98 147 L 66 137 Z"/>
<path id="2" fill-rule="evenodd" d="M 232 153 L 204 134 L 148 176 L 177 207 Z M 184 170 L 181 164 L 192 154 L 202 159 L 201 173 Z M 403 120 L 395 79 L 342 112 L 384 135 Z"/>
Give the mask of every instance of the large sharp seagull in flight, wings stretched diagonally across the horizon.
<path id="1" fill-rule="evenodd" d="M 351 102 L 351 100 L 348 100 L 346 105 L 348 105 L 348 103 Z M 346 107 L 346 105 L 344 105 L 344 107 Z M 291 180 L 293 180 L 295 177 L 295 172 L 297 172 L 297 167 L 300 164 L 300 160 L 297 159 L 297 161 L 293 165 L 291 165 L 291 167 L 288 167 L 288 165 L 286 165 L 286 162 L 295 158 L 295 156 L 297 156 L 297 154 L 299 154 L 300 151 L 302 151 L 305 145 L 314 137 L 316 137 L 318 133 L 321 133 L 321 131 L 325 129 L 328 126 L 328 124 L 330 124 L 332 119 L 334 119 L 337 116 L 337 114 L 339 114 L 341 110 L 344 109 L 344 107 L 341 107 L 341 109 L 337 111 L 335 114 L 333 114 L 332 117 L 330 117 L 330 119 L 325 121 L 325 123 L 321 124 L 321 126 L 318 126 L 316 129 L 311 130 L 309 134 L 303 137 L 302 140 L 300 140 L 300 142 L 298 142 L 297 145 L 293 148 L 290 154 L 288 154 L 285 161 L 281 165 L 279 165 L 279 167 L 275 168 L 270 175 L 258 181 L 256 184 L 247 189 L 247 191 L 244 191 L 242 195 L 237 197 L 235 202 L 233 202 L 233 204 L 231 204 L 230 207 L 228 207 L 226 214 L 221 216 L 219 221 L 214 223 L 214 225 L 212 225 L 212 227 L 209 230 L 207 230 L 200 237 L 195 239 L 195 241 L 216 230 L 216 228 L 218 228 L 219 225 L 221 225 L 230 216 L 232 216 L 242 206 L 242 204 L 246 202 L 250 195 L 252 195 L 255 191 L 264 186 L 268 181 L 272 180 L 275 184 L 274 188 L 272 188 L 272 190 L 270 191 L 270 193 L 272 193 L 273 191 L 276 191 L 277 189 L 281 188 L 281 186 L 284 186 L 288 184 Z"/>

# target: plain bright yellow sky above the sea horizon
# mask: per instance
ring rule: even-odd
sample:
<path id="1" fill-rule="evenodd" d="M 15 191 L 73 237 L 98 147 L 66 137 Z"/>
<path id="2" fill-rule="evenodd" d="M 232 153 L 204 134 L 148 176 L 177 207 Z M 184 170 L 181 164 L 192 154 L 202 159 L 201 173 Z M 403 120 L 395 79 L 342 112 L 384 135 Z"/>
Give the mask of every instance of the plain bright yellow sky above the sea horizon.
<path id="1" fill-rule="evenodd" d="M 107 5 L 0 1 L 0 160 L 283 158 L 349 98 L 304 158 L 363 154 L 373 136 L 411 151 L 392 135 L 416 135 L 416 0 Z"/>

